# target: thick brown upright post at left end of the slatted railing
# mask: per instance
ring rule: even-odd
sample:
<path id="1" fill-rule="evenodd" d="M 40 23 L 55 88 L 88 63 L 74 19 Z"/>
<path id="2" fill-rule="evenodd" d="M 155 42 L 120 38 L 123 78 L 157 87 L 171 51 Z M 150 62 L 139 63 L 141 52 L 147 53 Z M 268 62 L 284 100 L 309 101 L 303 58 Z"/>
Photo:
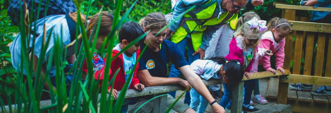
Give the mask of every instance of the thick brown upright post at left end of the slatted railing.
<path id="1" fill-rule="evenodd" d="M 285 10 L 285 19 L 295 20 L 295 10 Z M 285 59 L 284 59 L 284 69 L 290 70 L 291 65 L 291 55 L 292 55 L 292 39 L 293 33 L 290 33 L 286 36 L 285 40 Z M 279 80 L 281 81 L 281 79 Z M 287 92 L 288 92 L 289 83 L 279 82 L 278 85 L 278 98 L 277 103 L 286 104 L 287 103 Z"/>

